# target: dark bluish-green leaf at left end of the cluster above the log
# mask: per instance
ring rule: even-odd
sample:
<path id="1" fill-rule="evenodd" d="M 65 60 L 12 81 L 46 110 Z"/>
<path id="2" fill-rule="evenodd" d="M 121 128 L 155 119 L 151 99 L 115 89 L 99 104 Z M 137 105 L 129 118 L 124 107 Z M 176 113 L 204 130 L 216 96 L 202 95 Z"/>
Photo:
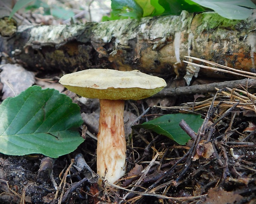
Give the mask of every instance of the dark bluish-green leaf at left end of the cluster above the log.
<path id="1" fill-rule="evenodd" d="M 143 9 L 134 0 L 111 0 L 111 8 L 115 16 L 127 16 L 133 19 L 143 16 Z"/>

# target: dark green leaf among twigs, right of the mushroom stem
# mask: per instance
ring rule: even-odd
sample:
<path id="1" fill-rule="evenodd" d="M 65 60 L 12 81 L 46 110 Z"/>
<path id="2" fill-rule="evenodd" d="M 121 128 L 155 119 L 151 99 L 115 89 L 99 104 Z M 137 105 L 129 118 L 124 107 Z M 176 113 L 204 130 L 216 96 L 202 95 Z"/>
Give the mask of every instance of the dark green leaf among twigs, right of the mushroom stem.
<path id="1" fill-rule="evenodd" d="M 203 124 L 203 119 L 200 115 L 195 114 L 168 114 L 156 118 L 152 121 L 134 125 L 133 127 L 142 127 L 147 130 L 152 130 L 158 134 L 163 134 L 178 144 L 186 144 L 191 139 L 184 130 L 181 129 L 179 123 L 184 120 L 194 132 L 197 132 Z"/>

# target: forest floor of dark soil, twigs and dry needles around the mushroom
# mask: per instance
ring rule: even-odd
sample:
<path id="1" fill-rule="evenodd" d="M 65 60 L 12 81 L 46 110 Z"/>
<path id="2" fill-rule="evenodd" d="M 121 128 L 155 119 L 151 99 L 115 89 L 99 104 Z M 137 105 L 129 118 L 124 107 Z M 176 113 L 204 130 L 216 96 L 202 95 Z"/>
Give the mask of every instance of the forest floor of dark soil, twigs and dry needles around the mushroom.
<path id="1" fill-rule="evenodd" d="M 60 76 L 62 72 L 38 72 L 33 84 L 55 88 L 81 107 L 85 122 L 79 131 L 85 141 L 57 159 L 0 153 L 0 203 L 256 203 L 255 90 L 241 86 L 203 95 L 127 101 L 126 175 L 113 185 L 98 185 L 93 135 L 98 131 L 99 101 L 65 90 L 58 83 Z M 3 83 L 0 90 L 2 100 L 9 96 L 2 91 Z M 149 130 L 129 128 L 175 113 L 200 114 L 204 119 L 197 134 L 188 131 L 192 139 L 186 145 Z M 78 168 L 78 160 L 91 169 Z"/>

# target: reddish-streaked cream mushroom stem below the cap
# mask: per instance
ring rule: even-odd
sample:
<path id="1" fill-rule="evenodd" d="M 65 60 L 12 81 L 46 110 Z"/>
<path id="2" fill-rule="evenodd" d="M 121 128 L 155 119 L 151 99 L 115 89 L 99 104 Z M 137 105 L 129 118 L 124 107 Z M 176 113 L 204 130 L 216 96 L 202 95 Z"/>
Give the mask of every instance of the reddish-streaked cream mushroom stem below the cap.
<path id="1" fill-rule="evenodd" d="M 124 100 L 100 99 L 97 173 L 110 183 L 114 183 L 126 171 L 123 112 Z"/>

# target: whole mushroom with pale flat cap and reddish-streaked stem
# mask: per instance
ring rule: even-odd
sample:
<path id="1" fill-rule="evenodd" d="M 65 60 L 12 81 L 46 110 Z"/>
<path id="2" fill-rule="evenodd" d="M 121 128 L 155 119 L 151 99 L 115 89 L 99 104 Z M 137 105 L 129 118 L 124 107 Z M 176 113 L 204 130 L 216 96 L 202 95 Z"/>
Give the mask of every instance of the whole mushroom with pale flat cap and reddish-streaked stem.
<path id="1" fill-rule="evenodd" d="M 125 100 L 152 96 L 162 90 L 166 82 L 138 70 L 90 69 L 65 74 L 59 83 L 83 97 L 100 99 L 97 173 L 114 183 L 126 171 Z"/>

